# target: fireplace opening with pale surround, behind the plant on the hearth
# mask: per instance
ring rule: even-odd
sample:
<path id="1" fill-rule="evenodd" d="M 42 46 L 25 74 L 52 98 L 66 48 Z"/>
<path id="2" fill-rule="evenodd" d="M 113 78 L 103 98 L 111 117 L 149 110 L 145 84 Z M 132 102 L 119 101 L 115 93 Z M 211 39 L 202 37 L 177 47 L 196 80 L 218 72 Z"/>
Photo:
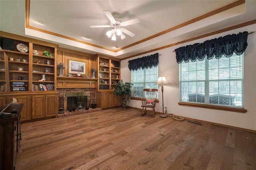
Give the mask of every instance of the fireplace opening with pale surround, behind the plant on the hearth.
<path id="1" fill-rule="evenodd" d="M 90 93 L 83 92 L 84 93 L 84 101 L 82 103 L 82 107 L 85 108 L 87 105 L 90 104 Z M 65 93 L 64 96 L 64 110 L 68 111 L 69 109 L 77 109 L 77 95 L 78 93 Z"/>

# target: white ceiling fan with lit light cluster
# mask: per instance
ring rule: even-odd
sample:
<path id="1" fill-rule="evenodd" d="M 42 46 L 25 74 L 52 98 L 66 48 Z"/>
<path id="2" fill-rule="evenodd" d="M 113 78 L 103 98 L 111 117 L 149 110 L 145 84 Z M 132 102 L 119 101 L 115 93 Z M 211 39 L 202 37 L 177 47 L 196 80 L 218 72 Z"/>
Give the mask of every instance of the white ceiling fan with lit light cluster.
<path id="1" fill-rule="evenodd" d="M 134 37 L 135 34 L 130 32 L 129 30 L 123 28 L 124 26 L 132 25 L 140 23 L 139 18 L 134 18 L 132 20 L 128 20 L 125 22 L 122 22 L 120 19 L 118 19 L 118 14 L 114 14 L 112 16 L 111 12 L 109 11 L 103 11 L 105 15 L 110 20 L 110 25 L 103 25 L 103 26 L 90 26 L 90 28 L 104 28 L 104 27 L 113 27 L 112 30 L 109 30 L 106 35 L 108 38 L 111 38 L 111 40 L 116 41 L 116 36 L 121 36 L 121 39 L 124 40 L 125 36 L 123 33 L 127 34 L 128 36 Z"/>

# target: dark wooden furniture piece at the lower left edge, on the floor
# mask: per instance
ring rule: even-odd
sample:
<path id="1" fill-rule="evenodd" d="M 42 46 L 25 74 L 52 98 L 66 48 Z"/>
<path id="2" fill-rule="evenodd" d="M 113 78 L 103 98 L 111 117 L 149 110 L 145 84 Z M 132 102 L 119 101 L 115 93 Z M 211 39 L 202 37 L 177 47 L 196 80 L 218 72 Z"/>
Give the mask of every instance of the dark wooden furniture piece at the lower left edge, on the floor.
<path id="1" fill-rule="evenodd" d="M 2 111 L 7 105 L 1 106 Z M 16 109 L 16 113 L 6 116 L 1 114 L 0 119 L 0 169 L 14 170 L 16 158 L 20 148 L 21 132 L 20 132 L 20 111 L 22 103 L 10 104 L 4 113 L 12 113 L 12 109 Z"/>

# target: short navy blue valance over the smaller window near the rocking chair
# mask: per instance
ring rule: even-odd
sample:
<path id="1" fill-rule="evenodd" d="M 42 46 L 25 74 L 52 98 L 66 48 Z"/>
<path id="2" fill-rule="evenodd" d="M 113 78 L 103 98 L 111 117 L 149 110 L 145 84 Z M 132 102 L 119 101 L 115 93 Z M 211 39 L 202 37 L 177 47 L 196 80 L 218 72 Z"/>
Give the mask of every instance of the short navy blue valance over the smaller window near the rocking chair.
<path id="1" fill-rule="evenodd" d="M 141 58 L 136 58 L 133 60 L 128 61 L 129 62 L 129 69 L 131 70 L 138 70 L 138 69 L 144 69 L 144 68 L 152 68 L 153 66 L 158 66 L 158 53 L 148 55 Z"/>

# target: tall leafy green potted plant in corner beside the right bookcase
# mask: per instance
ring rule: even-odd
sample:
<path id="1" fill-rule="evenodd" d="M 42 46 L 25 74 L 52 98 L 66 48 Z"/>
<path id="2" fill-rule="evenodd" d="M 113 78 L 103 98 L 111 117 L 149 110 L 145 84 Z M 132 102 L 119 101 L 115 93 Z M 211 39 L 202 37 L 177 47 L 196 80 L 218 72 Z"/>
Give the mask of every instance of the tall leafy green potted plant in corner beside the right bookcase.
<path id="1" fill-rule="evenodd" d="M 125 82 L 121 80 L 116 84 L 116 87 L 114 89 L 114 95 L 119 95 L 123 97 L 122 105 L 123 109 L 126 109 L 126 103 L 131 99 L 132 95 L 132 86 L 133 84 L 131 82 Z"/>

